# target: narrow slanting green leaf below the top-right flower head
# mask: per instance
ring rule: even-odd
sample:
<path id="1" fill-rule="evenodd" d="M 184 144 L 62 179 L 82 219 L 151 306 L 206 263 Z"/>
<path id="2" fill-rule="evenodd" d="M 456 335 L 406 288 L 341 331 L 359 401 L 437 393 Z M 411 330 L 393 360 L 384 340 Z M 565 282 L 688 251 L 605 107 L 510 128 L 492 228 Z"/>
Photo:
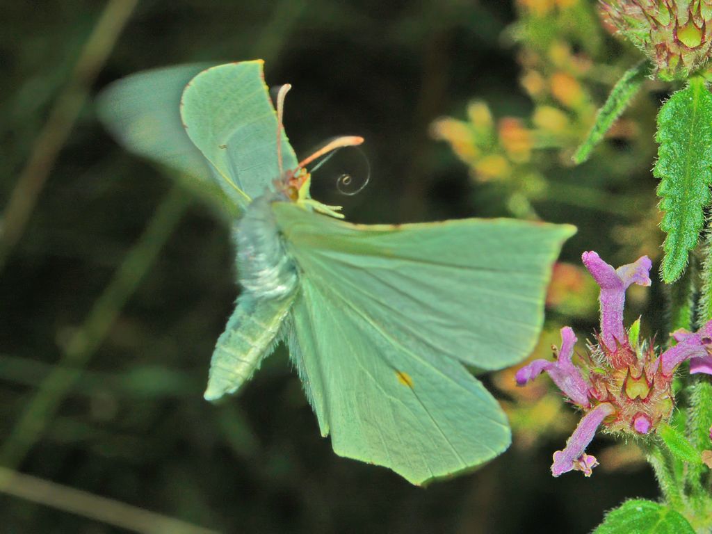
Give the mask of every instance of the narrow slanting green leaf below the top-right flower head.
<path id="1" fill-rule="evenodd" d="M 622 78 L 614 85 L 606 102 L 598 110 L 596 122 L 591 131 L 588 132 L 586 139 L 578 147 L 572 158 L 576 164 L 581 164 L 590 157 L 596 145 L 603 140 L 606 132 L 628 107 L 628 104 L 645 81 L 646 73 L 648 72 L 647 66 L 647 61 L 641 61 L 636 66 L 626 70 Z"/>

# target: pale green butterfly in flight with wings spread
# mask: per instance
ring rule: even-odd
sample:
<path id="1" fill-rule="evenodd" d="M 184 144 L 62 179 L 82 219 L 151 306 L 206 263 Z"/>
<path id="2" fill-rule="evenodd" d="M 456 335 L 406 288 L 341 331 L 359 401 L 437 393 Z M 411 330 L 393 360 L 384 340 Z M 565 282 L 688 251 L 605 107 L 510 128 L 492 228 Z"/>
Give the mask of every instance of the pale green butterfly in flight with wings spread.
<path id="1" fill-rule="evenodd" d="M 498 370 L 528 355 L 551 265 L 575 229 L 342 221 L 310 198 L 312 158 L 299 163 L 278 133 L 285 93 L 278 116 L 263 62 L 244 61 L 134 75 L 100 101 L 125 145 L 219 187 L 235 214 L 241 293 L 206 399 L 236 392 L 282 341 L 336 454 L 414 484 L 501 454 L 507 419 L 466 366 Z"/>

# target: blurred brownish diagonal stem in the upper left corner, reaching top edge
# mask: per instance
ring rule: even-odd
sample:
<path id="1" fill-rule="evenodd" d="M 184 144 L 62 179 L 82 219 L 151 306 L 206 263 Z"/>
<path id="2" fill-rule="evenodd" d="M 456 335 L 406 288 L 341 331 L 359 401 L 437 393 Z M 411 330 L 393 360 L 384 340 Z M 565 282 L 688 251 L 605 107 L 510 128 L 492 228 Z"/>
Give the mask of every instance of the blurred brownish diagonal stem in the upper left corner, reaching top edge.
<path id="1" fill-rule="evenodd" d="M 138 0 L 109 0 L 84 45 L 70 79 L 37 136 L 30 158 L 2 214 L 0 272 L 20 240 L 57 156 L 86 102 L 91 85 Z"/>

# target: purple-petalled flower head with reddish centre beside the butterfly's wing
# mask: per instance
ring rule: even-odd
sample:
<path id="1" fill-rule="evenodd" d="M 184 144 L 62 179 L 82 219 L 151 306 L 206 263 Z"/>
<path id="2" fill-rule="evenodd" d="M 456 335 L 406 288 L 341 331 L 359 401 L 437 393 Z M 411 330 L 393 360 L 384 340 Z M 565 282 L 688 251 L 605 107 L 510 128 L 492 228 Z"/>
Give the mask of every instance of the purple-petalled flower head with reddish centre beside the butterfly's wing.
<path id="1" fill-rule="evenodd" d="M 561 348 L 555 360 L 534 360 L 516 374 L 525 385 L 546 372 L 572 404 L 584 415 L 562 451 L 554 453 L 553 476 L 582 471 L 590 476 L 598 465 L 586 454 L 599 426 L 610 431 L 642 436 L 669 421 L 673 408 L 672 377 L 682 362 L 690 360 L 691 372 L 712 374 L 712 321 L 695 333 L 677 330 L 677 345 L 661 355 L 649 342 L 629 341 L 623 325 L 625 291 L 631 284 L 649 286 L 651 262 L 642 256 L 617 269 L 595 252 L 583 253 L 582 260 L 601 288 L 601 329 L 590 355 L 572 361 L 576 336 L 569 327 L 561 329 Z M 631 344 L 633 343 L 633 345 Z"/>

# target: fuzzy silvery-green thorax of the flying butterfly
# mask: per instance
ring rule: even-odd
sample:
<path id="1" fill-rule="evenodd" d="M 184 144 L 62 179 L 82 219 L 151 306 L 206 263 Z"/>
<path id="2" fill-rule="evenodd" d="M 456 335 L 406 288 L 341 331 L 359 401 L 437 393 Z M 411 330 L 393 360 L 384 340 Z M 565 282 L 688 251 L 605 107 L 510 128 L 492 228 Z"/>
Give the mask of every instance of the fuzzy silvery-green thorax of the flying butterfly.
<path id="1" fill-rule="evenodd" d="M 236 224 L 237 268 L 241 286 L 265 298 L 288 295 L 297 284 L 297 270 L 286 253 L 271 204 L 286 201 L 282 192 L 255 199 Z"/>

